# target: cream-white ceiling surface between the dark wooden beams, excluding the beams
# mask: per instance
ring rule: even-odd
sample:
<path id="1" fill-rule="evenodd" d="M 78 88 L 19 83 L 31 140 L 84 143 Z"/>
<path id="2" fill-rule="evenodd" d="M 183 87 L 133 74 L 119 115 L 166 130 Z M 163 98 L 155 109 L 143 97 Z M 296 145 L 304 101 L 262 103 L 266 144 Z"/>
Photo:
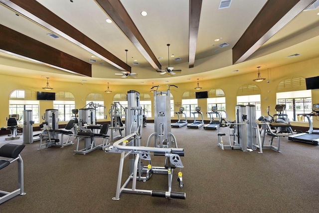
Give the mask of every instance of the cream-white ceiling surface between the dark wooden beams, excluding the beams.
<path id="1" fill-rule="evenodd" d="M 319 9 L 316 9 L 302 12 L 245 62 L 233 65 L 232 47 L 267 0 L 232 0 L 230 7 L 224 9 L 218 9 L 220 0 L 203 0 L 195 64 L 193 68 L 188 68 L 188 0 L 121 0 L 155 56 L 162 57 L 159 59 L 162 68 L 168 65 L 167 43 L 170 44 L 170 54 L 182 59 L 175 62 L 169 57 L 170 65 L 182 69 L 182 72 L 174 76 L 160 75 L 114 23 L 105 21 L 108 15 L 94 0 L 37 1 L 124 62 L 125 49 L 128 49 L 128 64 L 138 76 L 135 79 L 123 79 L 115 75 L 120 72 L 119 69 L 98 57 L 93 58 L 97 63 L 91 63 L 93 76 L 83 77 L 42 64 L 34 65 L 34 62 L 5 53 L 0 53 L 0 73 L 32 78 L 46 75 L 53 80 L 72 82 L 86 79 L 96 84 L 181 83 L 189 78 L 195 81 L 196 78 L 208 80 L 228 77 L 256 72 L 257 66 L 263 70 L 319 57 Z M 143 10 L 148 12 L 145 17 L 141 15 Z M 51 31 L 22 15 L 17 16 L 15 11 L 2 3 L 0 24 L 83 61 L 92 59 L 91 53 L 64 38 L 48 36 L 47 33 Z M 220 38 L 220 41 L 214 41 L 216 38 Z M 229 43 L 229 46 L 220 48 L 218 45 L 224 42 Z M 301 56 L 287 58 L 295 53 Z M 139 65 L 133 65 L 133 62 Z"/>

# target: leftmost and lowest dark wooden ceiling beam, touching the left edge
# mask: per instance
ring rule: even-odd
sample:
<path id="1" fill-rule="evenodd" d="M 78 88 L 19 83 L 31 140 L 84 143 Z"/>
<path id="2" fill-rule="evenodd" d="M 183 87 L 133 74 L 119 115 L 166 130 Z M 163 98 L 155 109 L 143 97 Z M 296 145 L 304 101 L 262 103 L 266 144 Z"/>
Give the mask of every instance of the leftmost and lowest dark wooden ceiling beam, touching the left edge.
<path id="1" fill-rule="evenodd" d="M 0 51 L 66 72 L 92 77 L 91 64 L 1 24 Z"/>

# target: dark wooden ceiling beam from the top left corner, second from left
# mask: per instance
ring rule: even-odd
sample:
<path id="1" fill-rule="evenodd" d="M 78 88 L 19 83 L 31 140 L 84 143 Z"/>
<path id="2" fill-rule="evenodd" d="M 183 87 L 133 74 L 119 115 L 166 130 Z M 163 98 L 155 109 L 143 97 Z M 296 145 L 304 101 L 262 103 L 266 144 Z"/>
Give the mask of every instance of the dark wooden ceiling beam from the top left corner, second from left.
<path id="1" fill-rule="evenodd" d="M 105 60 L 114 67 L 131 72 L 131 67 L 104 49 L 36 0 L 0 0 L 6 6 L 28 17 L 50 31 Z"/>

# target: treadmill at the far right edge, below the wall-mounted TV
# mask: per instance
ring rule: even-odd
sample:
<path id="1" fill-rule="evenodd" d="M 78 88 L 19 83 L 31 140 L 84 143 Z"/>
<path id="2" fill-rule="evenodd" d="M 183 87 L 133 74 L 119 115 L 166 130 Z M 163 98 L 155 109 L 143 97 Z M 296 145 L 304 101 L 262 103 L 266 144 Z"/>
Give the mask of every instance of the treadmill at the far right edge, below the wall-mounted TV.
<path id="1" fill-rule="evenodd" d="M 313 105 L 313 112 L 309 114 L 298 114 L 298 116 L 306 116 L 309 122 L 309 130 L 305 133 L 298 133 L 295 135 L 291 135 L 288 137 L 290 141 L 298 141 L 304 143 L 310 143 L 314 145 L 318 145 L 319 142 L 319 130 L 314 130 L 313 122 L 311 121 L 311 116 L 318 116 L 319 113 L 319 104 Z"/>

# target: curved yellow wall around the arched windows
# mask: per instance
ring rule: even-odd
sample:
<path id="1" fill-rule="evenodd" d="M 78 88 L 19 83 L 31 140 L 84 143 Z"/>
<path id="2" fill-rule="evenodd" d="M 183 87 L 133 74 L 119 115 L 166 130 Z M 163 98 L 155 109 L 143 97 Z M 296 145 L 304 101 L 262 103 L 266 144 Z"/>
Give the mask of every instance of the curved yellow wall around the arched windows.
<path id="1" fill-rule="evenodd" d="M 252 79 L 257 77 L 256 73 L 249 74 L 240 74 L 237 76 L 228 77 L 228 78 L 220 78 L 208 81 L 199 81 L 200 87 L 202 89 L 200 91 L 209 91 L 210 89 L 220 88 L 224 91 L 226 96 L 226 111 L 229 119 L 235 118 L 235 105 L 237 104 L 237 90 L 240 86 L 244 84 L 256 84 L 261 90 L 261 107 L 262 107 L 262 115 L 267 115 L 267 107 L 270 106 L 270 109 L 275 109 L 276 105 L 276 92 L 278 84 L 286 78 L 291 76 L 302 76 L 302 77 L 313 77 L 319 75 L 319 58 L 314 58 L 307 61 L 302 61 L 295 64 L 290 64 L 286 66 L 271 68 L 271 77 L 270 83 L 267 81 L 256 82 L 254 83 Z M 262 76 L 267 77 L 267 70 L 261 70 Z M 125 81 L 125 79 L 123 80 Z M 107 112 L 110 109 L 110 106 L 113 102 L 113 96 L 116 93 L 127 93 L 128 90 L 136 90 L 140 93 L 148 93 L 151 96 L 153 102 L 153 93 L 150 92 L 151 85 L 110 85 L 110 89 L 113 91 L 112 93 L 105 93 L 106 90 L 105 85 L 94 85 L 89 83 L 66 83 L 66 82 L 57 82 L 49 81 L 50 86 L 54 89 L 51 92 L 60 92 L 67 91 L 71 92 L 75 97 L 75 108 L 79 109 L 86 105 L 86 96 L 89 93 L 100 93 L 104 97 L 104 103 L 107 107 Z M 0 126 L 6 126 L 6 117 L 8 117 L 8 106 L 9 106 L 9 94 L 16 89 L 24 89 L 24 90 L 32 90 L 32 91 L 43 91 L 41 87 L 45 86 L 45 81 L 43 79 L 31 79 L 31 78 L 20 78 L 13 77 L 9 75 L 0 75 L 0 84 L 1 84 L 1 110 L 0 110 Z M 185 91 L 195 91 L 194 87 L 196 87 L 197 82 L 187 82 L 187 83 L 179 83 L 175 87 L 171 87 L 171 93 L 174 97 L 174 103 L 180 102 L 182 99 L 182 94 Z M 166 85 L 161 85 L 159 91 L 165 91 L 167 89 Z M 306 89 L 306 88 L 305 88 Z M 319 103 L 319 89 L 312 90 L 312 100 L 313 103 Z M 204 114 L 204 119 L 208 120 L 206 115 L 206 99 L 198 99 L 198 106 L 201 107 L 201 111 Z M 40 101 L 40 116 L 44 114 L 45 109 L 53 108 L 53 101 Z M 174 107 L 174 111 L 177 112 L 179 110 L 179 106 Z M 275 110 L 272 110 L 271 114 L 274 114 Z M 152 112 L 152 118 L 153 112 Z M 174 118 L 177 119 L 175 115 Z M 106 121 L 109 121 L 109 115 Z M 42 122 L 42 121 L 40 121 Z M 66 122 L 65 122 L 66 123 Z M 61 122 L 62 124 L 62 122 Z M 293 125 L 296 126 L 308 126 L 308 123 L 300 123 L 293 122 Z M 38 126 L 35 124 L 34 126 Z M 319 128 L 319 121 L 314 119 L 314 127 Z"/>

